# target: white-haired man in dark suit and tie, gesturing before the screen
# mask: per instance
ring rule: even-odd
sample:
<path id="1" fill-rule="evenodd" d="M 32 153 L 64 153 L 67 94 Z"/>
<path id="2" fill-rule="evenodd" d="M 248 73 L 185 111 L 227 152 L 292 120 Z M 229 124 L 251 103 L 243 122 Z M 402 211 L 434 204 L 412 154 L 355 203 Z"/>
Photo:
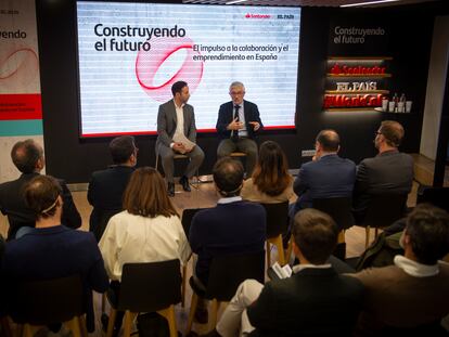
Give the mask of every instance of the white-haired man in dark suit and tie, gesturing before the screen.
<path id="1" fill-rule="evenodd" d="M 244 101 L 245 87 L 242 82 L 232 82 L 229 87 L 232 101 L 221 104 L 218 112 L 217 132 L 221 138 L 217 156 L 222 158 L 232 152 L 246 154 L 246 174 L 251 177 L 257 163 L 257 144 L 254 141 L 257 131 L 262 128 L 257 105 Z"/>

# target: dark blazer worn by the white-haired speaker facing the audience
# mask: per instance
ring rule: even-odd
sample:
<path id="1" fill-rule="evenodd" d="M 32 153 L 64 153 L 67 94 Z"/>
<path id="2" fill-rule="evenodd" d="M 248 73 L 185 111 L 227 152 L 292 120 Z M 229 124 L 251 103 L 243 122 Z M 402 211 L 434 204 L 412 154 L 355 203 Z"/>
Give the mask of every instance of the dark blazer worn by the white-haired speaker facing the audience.
<path id="1" fill-rule="evenodd" d="M 243 101 L 243 112 L 245 115 L 245 125 L 246 130 L 248 131 L 248 138 L 254 139 L 256 135 L 256 132 L 260 131 L 264 127 L 259 109 L 257 108 L 257 105 L 248 102 Z M 230 138 L 231 137 L 231 130 L 227 130 L 226 128 L 228 125 L 234 119 L 234 103 L 228 102 L 220 105 L 220 109 L 218 111 L 218 120 L 217 120 L 217 132 L 218 135 L 222 139 Z M 253 125 L 249 124 L 249 121 L 257 121 L 260 124 L 260 128 L 257 131 L 254 131 Z"/>

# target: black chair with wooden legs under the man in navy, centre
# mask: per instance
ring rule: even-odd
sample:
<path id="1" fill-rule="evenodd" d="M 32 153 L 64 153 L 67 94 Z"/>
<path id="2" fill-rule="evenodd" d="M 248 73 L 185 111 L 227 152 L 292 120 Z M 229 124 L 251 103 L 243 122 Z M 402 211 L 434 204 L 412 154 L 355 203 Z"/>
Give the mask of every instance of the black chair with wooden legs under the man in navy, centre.
<path id="1" fill-rule="evenodd" d="M 217 313 L 221 302 L 230 301 L 243 281 L 254 278 L 264 283 L 264 251 L 226 255 L 214 258 L 206 289 L 197 285 L 193 276 L 190 277 L 190 285 L 193 291 L 185 335 L 192 329 L 198 296 L 211 300 L 209 327 L 214 328 L 217 325 Z"/>

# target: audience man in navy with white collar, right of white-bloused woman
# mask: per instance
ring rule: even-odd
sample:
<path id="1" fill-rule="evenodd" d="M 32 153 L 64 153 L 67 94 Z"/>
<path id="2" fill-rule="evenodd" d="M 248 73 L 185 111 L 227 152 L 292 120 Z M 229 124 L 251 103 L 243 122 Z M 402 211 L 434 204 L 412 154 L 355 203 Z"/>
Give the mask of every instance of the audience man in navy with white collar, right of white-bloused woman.
<path id="1" fill-rule="evenodd" d="M 220 199 L 216 207 L 200 210 L 192 219 L 189 242 L 197 254 L 194 282 L 200 287 L 207 285 L 214 257 L 264 250 L 266 211 L 259 204 L 242 200 L 243 173 L 240 161 L 230 157 L 219 159 L 213 174 Z M 198 310 L 204 309 L 205 303 L 200 301 Z"/>

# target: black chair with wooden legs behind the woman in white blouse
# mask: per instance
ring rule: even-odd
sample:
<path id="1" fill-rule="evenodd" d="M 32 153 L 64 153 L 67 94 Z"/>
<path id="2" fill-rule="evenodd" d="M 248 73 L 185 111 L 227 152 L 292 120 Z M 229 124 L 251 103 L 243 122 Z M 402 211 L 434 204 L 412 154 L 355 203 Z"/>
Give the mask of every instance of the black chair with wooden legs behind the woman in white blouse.
<path id="1" fill-rule="evenodd" d="M 175 304 L 180 301 L 179 260 L 126 263 L 123 269 L 118 300 L 116 303 L 111 303 L 106 336 L 113 336 L 114 323 L 119 310 L 125 311 L 125 337 L 131 335 L 132 321 L 139 312 L 157 312 L 168 321 L 170 337 L 177 337 Z"/>

